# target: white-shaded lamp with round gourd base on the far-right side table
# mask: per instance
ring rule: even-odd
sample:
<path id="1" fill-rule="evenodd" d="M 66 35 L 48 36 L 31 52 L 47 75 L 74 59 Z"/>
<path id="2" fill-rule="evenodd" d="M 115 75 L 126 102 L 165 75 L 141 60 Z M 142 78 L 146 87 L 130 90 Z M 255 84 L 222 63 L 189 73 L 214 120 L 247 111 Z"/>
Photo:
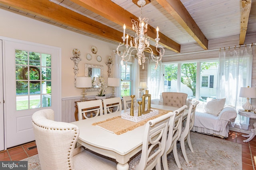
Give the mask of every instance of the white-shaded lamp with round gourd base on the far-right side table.
<path id="1" fill-rule="evenodd" d="M 252 105 L 250 104 L 250 98 L 256 98 L 256 88 L 241 87 L 239 97 L 246 98 L 246 103 L 242 106 L 244 111 L 251 111 Z"/>

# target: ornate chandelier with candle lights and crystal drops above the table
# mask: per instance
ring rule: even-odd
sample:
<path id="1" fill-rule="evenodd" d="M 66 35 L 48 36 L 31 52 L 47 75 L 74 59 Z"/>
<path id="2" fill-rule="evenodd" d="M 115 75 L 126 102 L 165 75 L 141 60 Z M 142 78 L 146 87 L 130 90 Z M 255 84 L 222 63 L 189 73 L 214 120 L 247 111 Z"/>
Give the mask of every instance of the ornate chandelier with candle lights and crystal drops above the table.
<path id="1" fill-rule="evenodd" d="M 154 53 L 150 47 L 149 41 L 150 37 L 146 34 L 148 30 L 148 18 L 142 18 L 142 7 L 146 4 L 145 0 L 138 0 L 137 2 L 138 6 L 140 6 L 140 17 L 138 18 L 138 21 L 135 21 L 132 19 L 132 29 L 136 32 L 134 36 L 130 37 L 130 45 L 128 45 L 128 34 L 125 36 L 125 29 L 126 26 L 124 24 L 124 34 L 122 36 L 123 43 L 119 43 L 118 47 L 116 48 L 116 53 L 119 57 L 121 57 L 121 65 L 124 65 L 124 62 L 129 61 L 130 57 L 132 56 L 132 52 L 135 50 L 136 55 L 135 57 L 138 58 L 138 64 L 142 65 L 142 69 L 144 69 L 144 63 L 146 61 L 146 56 L 144 54 L 144 51 L 149 53 L 148 58 L 152 58 L 152 60 L 156 63 L 155 69 L 158 66 L 158 62 L 162 60 L 162 56 L 164 55 L 164 48 L 162 45 L 158 44 L 160 38 L 158 38 L 158 27 L 156 27 L 156 51 L 158 52 L 158 56 L 154 56 Z M 126 40 L 126 44 L 125 44 Z M 126 49 L 124 50 L 123 54 L 121 55 L 118 51 L 119 47 L 125 45 Z M 129 47 L 130 46 L 130 47 Z M 128 57 L 127 60 L 124 58 Z M 126 63 L 127 64 L 127 63 Z"/>

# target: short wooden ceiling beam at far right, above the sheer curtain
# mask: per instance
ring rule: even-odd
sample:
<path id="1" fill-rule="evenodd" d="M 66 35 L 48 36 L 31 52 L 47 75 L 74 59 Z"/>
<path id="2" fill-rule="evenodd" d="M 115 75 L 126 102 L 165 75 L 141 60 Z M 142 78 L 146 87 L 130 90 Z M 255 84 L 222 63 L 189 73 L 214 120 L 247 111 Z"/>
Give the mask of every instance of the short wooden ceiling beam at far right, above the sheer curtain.
<path id="1" fill-rule="evenodd" d="M 242 3 L 242 14 L 241 14 L 239 45 L 243 45 L 245 41 L 252 1 L 242 0 L 241 3 Z"/>

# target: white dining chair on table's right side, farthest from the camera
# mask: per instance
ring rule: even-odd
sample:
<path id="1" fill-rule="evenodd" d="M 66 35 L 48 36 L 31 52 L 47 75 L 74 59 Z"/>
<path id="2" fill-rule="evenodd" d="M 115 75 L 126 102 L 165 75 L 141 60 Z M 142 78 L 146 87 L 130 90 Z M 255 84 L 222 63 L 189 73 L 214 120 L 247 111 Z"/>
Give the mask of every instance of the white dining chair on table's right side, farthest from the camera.
<path id="1" fill-rule="evenodd" d="M 191 152 L 194 153 L 191 140 L 190 140 L 190 130 L 194 125 L 196 105 L 198 104 L 199 104 L 199 101 L 196 101 L 194 104 L 190 105 L 188 109 L 188 116 L 186 118 L 185 126 L 182 126 L 182 132 L 180 134 L 180 138 L 178 139 L 178 141 L 180 141 L 180 148 L 182 150 L 183 157 L 187 163 L 189 163 L 189 161 L 188 161 L 188 156 L 186 154 L 185 141 L 188 142 L 188 146 Z"/>

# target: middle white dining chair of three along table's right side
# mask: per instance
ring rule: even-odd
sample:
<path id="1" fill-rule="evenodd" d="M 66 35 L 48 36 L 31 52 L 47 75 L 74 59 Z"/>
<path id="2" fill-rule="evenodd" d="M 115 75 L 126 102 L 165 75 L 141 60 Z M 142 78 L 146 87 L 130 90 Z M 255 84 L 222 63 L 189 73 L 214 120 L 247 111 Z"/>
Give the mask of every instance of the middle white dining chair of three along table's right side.
<path id="1" fill-rule="evenodd" d="M 187 108 L 188 106 L 184 105 L 173 112 L 175 113 L 175 118 L 174 118 L 174 121 L 172 122 L 170 121 L 167 143 L 164 150 L 164 154 L 162 155 L 162 163 L 163 163 L 164 170 L 168 170 L 167 154 L 169 154 L 171 151 L 173 153 L 173 156 L 178 168 L 181 168 L 180 161 L 178 158 L 178 153 L 177 153 L 177 141 L 180 138 L 180 134 L 182 131 L 183 113 L 184 113 L 184 110 Z"/>

